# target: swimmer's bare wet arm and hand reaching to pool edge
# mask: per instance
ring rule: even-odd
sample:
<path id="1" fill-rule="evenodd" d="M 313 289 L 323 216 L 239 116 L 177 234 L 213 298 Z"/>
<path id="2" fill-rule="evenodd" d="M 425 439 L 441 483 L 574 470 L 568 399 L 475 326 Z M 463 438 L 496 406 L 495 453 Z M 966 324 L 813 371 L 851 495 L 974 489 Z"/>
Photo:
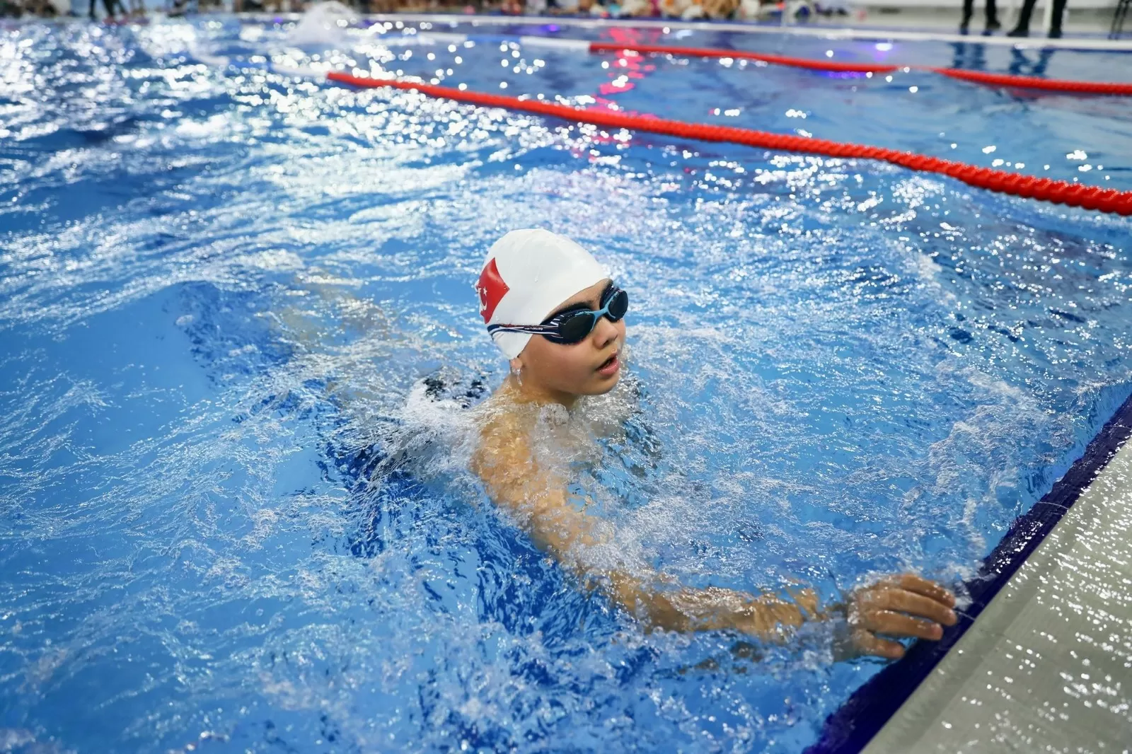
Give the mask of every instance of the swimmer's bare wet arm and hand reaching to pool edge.
<path id="1" fill-rule="evenodd" d="M 583 581 L 597 576 L 606 591 L 626 610 L 654 628 L 667 631 L 739 631 L 766 640 L 782 640 L 807 620 L 831 616 L 818 609 L 813 590 L 800 589 L 787 600 L 773 594 L 755 597 L 730 589 L 680 588 L 666 574 L 644 576 L 620 569 L 595 571 L 581 560 L 581 551 L 608 546 L 600 520 L 571 503 L 567 485 L 540 468 L 514 419 L 496 417 L 482 429 L 472 456 L 472 471 L 501 508 L 524 525 L 534 542 Z M 938 584 L 912 574 L 883 579 L 852 592 L 846 606 L 831 608 L 847 619 L 847 637 L 839 659 L 877 654 L 897 659 L 903 646 L 877 634 L 900 639 L 937 640 L 940 624 L 952 625 L 954 597 Z"/>

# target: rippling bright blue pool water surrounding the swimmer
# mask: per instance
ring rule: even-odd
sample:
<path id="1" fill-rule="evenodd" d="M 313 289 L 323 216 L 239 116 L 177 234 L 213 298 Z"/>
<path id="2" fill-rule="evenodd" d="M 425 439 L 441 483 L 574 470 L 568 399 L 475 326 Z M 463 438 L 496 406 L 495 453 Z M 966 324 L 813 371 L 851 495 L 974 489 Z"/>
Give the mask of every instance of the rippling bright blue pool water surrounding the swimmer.
<path id="1" fill-rule="evenodd" d="M 414 393 L 438 370 L 505 374 L 471 284 L 509 229 L 573 235 L 631 292 L 640 411 L 577 482 L 626 550 L 686 583 L 958 584 L 1132 392 L 1127 219 L 218 71 L 191 50 L 1132 189 L 1126 98 L 288 33 L 223 16 L 0 31 L 0 752 L 815 740 L 876 663 L 830 663 L 821 628 L 758 660 L 735 636 L 643 633 L 492 512 L 462 465 L 464 414 Z M 663 36 L 593 32 L 611 34 Z M 1115 53 L 832 52 L 1129 70 Z M 397 443 L 412 457 L 383 462 Z"/>

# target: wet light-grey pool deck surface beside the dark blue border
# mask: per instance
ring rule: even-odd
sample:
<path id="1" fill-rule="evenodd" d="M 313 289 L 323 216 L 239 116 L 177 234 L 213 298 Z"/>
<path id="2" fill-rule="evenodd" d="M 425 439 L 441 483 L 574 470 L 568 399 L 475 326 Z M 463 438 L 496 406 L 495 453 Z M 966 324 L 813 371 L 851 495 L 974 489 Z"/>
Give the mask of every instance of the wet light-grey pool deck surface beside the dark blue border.
<path id="1" fill-rule="evenodd" d="M 865 747 L 1132 749 L 1132 443 Z"/>

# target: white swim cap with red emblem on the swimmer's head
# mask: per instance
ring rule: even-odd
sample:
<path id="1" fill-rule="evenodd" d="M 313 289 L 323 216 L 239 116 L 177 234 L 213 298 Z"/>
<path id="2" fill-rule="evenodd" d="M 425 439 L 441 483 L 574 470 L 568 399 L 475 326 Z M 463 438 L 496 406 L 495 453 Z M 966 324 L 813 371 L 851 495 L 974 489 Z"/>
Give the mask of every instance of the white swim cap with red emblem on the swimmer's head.
<path id="1" fill-rule="evenodd" d="M 559 303 L 609 277 L 593 255 L 565 235 L 539 228 L 511 231 L 488 250 L 475 284 L 487 325 L 540 325 Z M 495 344 L 514 359 L 530 333 L 495 332 Z"/>

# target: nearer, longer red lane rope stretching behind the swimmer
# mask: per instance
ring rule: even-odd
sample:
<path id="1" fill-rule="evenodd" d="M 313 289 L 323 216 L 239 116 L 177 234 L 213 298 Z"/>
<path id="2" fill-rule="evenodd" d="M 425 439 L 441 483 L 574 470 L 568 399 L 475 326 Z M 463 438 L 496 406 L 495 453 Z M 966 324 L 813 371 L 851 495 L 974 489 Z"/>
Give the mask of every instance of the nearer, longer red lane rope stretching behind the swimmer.
<path id="1" fill-rule="evenodd" d="M 910 170 L 950 175 L 969 186 L 990 191 L 1012 194 L 1014 196 L 1052 202 L 1054 204 L 1065 204 L 1071 207 L 1097 209 L 1118 215 L 1132 215 L 1132 191 L 1117 191 L 1116 189 L 1104 189 L 1099 186 L 1084 186 L 1081 183 L 1055 181 L 1049 178 L 1007 173 L 1003 170 L 978 168 L 976 165 L 951 162 L 912 152 L 899 152 L 897 149 L 885 149 L 883 147 L 860 144 L 846 144 L 825 139 L 811 139 L 801 136 L 771 134 L 769 131 L 756 131 L 749 128 L 735 128 L 732 126 L 686 123 L 679 120 L 667 120 L 653 115 L 628 115 L 612 110 L 581 110 L 554 102 L 520 100 L 501 94 L 469 92 L 447 86 L 400 82 L 396 79 L 368 78 L 335 71 L 327 72 L 326 78 L 332 82 L 367 88 L 392 86 L 397 89 L 415 89 L 430 97 L 455 100 L 456 102 L 468 102 L 488 108 L 504 108 L 507 110 L 531 112 L 539 115 L 604 126 L 606 128 L 626 128 L 701 142 L 727 142 L 765 149 L 821 154 L 830 157 L 881 160 Z"/>

